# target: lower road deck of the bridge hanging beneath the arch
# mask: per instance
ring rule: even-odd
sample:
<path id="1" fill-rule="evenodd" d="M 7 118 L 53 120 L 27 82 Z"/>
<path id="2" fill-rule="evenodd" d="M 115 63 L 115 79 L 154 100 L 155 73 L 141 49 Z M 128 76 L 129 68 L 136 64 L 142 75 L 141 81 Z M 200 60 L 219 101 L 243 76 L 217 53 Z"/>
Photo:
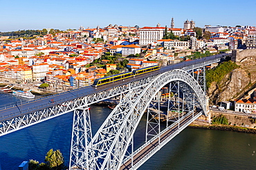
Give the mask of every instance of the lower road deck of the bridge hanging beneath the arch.
<path id="1" fill-rule="evenodd" d="M 194 113 L 194 117 L 197 117 L 197 116 L 199 116 L 199 113 Z M 166 140 L 166 138 L 168 136 L 172 136 L 177 130 L 179 130 L 179 126 L 182 127 L 183 125 L 185 125 L 185 123 L 188 123 L 188 121 L 190 121 L 192 118 L 193 118 L 193 115 L 190 114 L 190 116 L 181 120 L 180 125 L 176 124 L 169 130 L 167 130 L 164 134 L 162 134 L 161 139 L 160 139 L 160 145 L 163 145 L 163 141 Z M 144 147 L 140 152 L 136 153 L 134 155 L 133 164 L 136 165 L 140 160 L 145 158 L 145 156 L 147 156 L 147 154 L 149 154 L 153 149 L 155 149 L 156 147 L 159 147 L 158 140 L 159 139 L 156 138 L 153 142 L 151 142 L 149 145 Z M 150 158 L 150 156 L 149 156 L 149 158 Z M 122 164 L 120 169 L 122 169 L 122 170 L 131 169 L 131 159 L 127 160 L 127 162 L 125 162 L 125 164 Z"/>

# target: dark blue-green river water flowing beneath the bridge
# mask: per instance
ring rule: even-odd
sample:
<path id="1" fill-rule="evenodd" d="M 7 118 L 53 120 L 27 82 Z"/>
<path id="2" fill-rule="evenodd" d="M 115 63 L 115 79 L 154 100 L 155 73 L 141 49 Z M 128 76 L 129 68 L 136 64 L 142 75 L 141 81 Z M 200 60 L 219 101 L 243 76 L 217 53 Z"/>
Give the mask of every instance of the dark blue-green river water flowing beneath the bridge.
<path id="1" fill-rule="evenodd" d="M 0 107 L 28 99 L 0 94 Z M 110 113 L 91 106 L 93 134 Z M 2 170 L 18 169 L 24 160 L 43 162 L 49 149 L 60 149 L 68 165 L 73 114 L 68 113 L 0 137 Z M 145 140 L 146 118 L 136 129 L 135 148 Z M 144 135 L 142 135 L 144 134 Z M 232 131 L 186 128 L 140 169 L 256 169 L 256 136 Z"/>

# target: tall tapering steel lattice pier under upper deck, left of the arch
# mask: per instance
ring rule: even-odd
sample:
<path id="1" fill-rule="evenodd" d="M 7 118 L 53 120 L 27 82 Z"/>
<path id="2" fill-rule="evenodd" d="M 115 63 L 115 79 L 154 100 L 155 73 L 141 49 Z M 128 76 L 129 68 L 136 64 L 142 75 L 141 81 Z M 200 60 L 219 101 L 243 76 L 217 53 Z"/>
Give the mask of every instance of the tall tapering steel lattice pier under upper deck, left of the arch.
<path id="1" fill-rule="evenodd" d="M 94 162 L 89 163 L 93 160 L 93 150 L 89 147 L 92 138 L 89 109 L 74 111 L 69 169 L 94 169 Z"/>

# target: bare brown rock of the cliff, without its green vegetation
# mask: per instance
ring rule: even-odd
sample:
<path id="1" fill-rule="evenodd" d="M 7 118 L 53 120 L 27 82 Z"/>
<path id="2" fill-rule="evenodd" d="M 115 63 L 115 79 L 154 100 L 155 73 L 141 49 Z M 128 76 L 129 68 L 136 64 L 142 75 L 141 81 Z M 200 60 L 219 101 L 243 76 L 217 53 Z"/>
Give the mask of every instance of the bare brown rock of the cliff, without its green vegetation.
<path id="1" fill-rule="evenodd" d="M 241 57 L 243 54 L 239 54 Z M 256 53 L 244 55 L 244 58 L 236 61 L 240 67 L 233 70 L 221 80 L 213 82 L 208 89 L 210 104 L 220 101 L 235 100 L 239 95 L 256 83 Z"/>

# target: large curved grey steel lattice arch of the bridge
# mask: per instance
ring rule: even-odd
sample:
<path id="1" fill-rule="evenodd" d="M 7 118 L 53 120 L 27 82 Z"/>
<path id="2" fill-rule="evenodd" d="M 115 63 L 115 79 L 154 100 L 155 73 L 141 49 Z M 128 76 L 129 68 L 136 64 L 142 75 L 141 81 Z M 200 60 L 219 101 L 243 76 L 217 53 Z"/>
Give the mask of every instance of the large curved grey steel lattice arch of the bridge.
<path id="1" fill-rule="evenodd" d="M 183 70 L 172 70 L 154 78 L 149 84 L 132 89 L 122 97 L 120 103 L 104 121 L 89 146 L 94 153 L 86 164 L 89 169 L 119 169 L 131 138 L 153 96 L 167 83 L 182 81 L 196 94 L 206 114 L 206 98 L 199 83 Z M 91 162 L 93 161 L 93 162 Z M 95 167 L 94 167 L 95 166 Z M 86 167 L 86 166 L 84 166 Z"/>

